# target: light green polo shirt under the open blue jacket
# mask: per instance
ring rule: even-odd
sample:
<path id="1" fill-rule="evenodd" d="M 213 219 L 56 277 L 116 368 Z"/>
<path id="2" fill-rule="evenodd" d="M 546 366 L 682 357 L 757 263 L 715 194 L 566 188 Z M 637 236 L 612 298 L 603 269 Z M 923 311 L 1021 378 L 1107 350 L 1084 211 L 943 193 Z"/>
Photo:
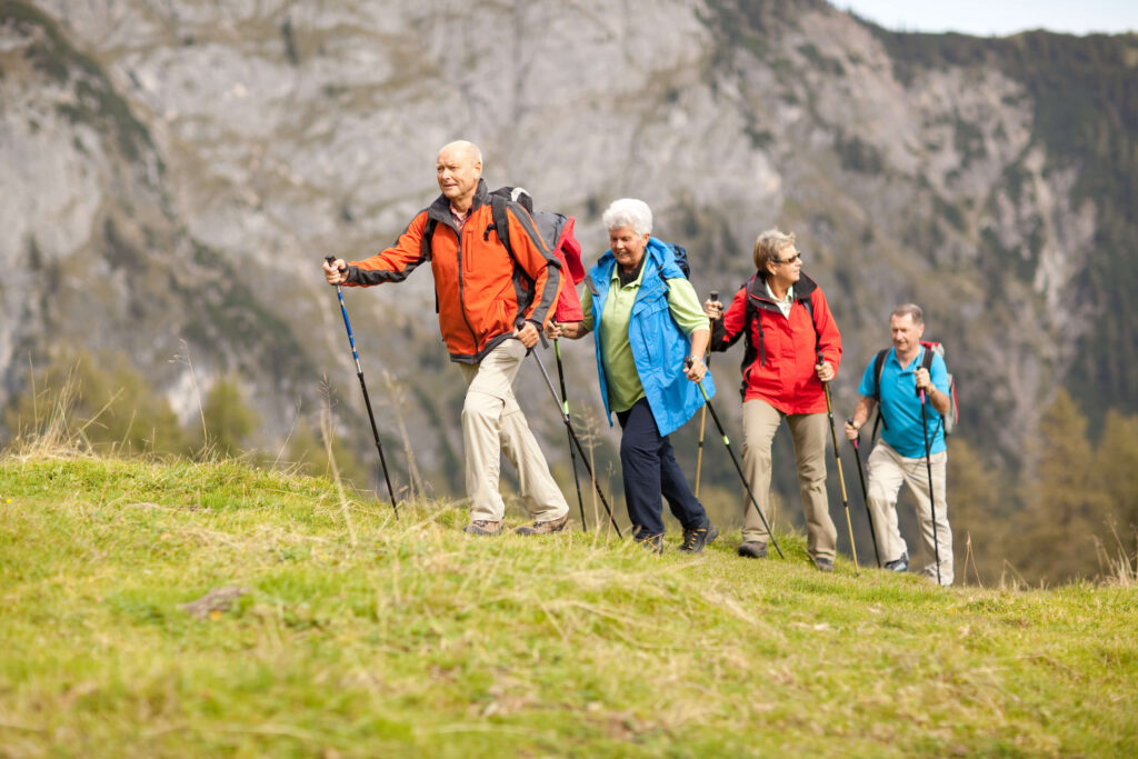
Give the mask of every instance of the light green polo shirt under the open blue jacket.
<path id="1" fill-rule="evenodd" d="M 641 266 L 640 275 L 624 287 L 620 287 L 619 269 L 615 266 L 612 270 L 609 297 L 601 313 L 601 361 L 604 362 L 604 377 L 609 383 L 609 407 L 612 411 L 628 411 L 644 397 L 644 386 L 641 385 L 633 348 L 628 344 L 628 320 L 646 266 Z M 593 294 L 588 288 L 585 289 L 580 306 L 585 312 L 585 329 L 592 330 Z M 698 329 L 710 329 L 695 288 L 683 277 L 668 280 L 668 311 L 688 337 Z M 681 368 L 677 366 L 676 371 L 681 371 Z"/>

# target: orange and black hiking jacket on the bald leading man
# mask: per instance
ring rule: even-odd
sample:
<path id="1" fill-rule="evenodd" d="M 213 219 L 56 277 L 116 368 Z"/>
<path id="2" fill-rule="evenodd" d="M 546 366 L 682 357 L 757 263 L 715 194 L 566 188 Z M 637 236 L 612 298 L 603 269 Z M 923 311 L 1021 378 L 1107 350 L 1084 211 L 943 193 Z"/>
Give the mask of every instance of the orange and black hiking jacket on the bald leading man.
<path id="1" fill-rule="evenodd" d="M 516 258 L 494 229 L 485 181 L 478 182 L 461 239 L 451 217 L 451 201 L 440 195 L 411 220 L 393 247 L 351 262 L 347 284 L 402 282 L 429 261 L 438 327 L 451 361 L 476 364 L 525 322 L 544 327 L 561 287 L 561 264 L 546 249 L 530 215 L 510 203 L 506 218 Z M 429 226 L 434 233 L 424 244 Z"/>

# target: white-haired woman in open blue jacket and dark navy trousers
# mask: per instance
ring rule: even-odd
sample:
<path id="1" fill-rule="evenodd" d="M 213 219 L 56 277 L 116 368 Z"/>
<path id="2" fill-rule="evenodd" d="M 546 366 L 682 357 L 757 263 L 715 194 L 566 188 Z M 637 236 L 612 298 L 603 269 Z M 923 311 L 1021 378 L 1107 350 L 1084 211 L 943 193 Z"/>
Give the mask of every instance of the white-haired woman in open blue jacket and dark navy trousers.
<path id="1" fill-rule="evenodd" d="M 621 198 L 602 216 L 609 250 L 589 270 L 582 298 L 585 320 L 550 324 L 550 337 L 595 332 L 601 397 L 620 422 L 620 467 L 633 538 L 663 550 L 662 495 L 684 528 L 681 551 L 699 552 L 719 534 L 676 462 L 668 435 L 700 406 L 710 337 L 695 289 L 667 244 L 651 237 L 652 211 Z M 686 368 L 685 368 L 686 364 Z"/>

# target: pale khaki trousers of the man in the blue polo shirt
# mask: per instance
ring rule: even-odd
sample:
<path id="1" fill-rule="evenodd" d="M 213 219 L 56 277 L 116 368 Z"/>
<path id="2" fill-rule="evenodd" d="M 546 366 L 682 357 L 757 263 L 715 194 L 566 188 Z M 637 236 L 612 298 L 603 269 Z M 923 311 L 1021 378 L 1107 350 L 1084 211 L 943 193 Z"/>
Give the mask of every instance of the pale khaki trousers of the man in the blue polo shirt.
<path id="1" fill-rule="evenodd" d="M 930 457 L 932 463 L 932 486 L 937 508 L 937 542 L 940 543 L 940 583 L 951 585 L 953 576 L 953 528 L 948 525 L 948 497 L 946 471 L 948 452 L 941 451 Z M 866 465 L 869 478 L 868 501 L 873 512 L 873 525 L 877 533 L 877 548 L 882 561 L 897 561 L 908 553 L 905 538 L 897 529 L 897 494 L 901 485 L 908 485 L 917 498 L 917 522 L 921 536 L 929 552 L 929 563 L 922 575 L 937 579 L 937 545 L 933 542 L 932 508 L 929 503 L 929 469 L 924 457 L 907 459 L 897 453 L 884 440 L 880 440 L 869 454 Z"/>

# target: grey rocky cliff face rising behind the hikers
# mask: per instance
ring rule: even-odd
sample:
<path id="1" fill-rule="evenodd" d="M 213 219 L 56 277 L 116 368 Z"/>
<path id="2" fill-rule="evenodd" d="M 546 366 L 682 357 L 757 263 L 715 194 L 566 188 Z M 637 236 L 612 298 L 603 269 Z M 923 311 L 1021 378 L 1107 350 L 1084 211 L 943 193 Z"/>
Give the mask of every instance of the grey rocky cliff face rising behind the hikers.
<path id="1" fill-rule="evenodd" d="M 842 407 L 891 306 L 921 303 L 975 439 L 1014 460 L 1095 360 L 1080 275 L 1102 199 L 1080 190 L 1091 162 L 1041 132 L 1023 57 L 1001 65 L 1015 40 L 924 59 L 906 40 L 816 0 L 5 2 L 0 402 L 68 341 L 130 352 L 191 413 L 170 361 L 189 347 L 206 382 L 240 370 L 280 437 L 321 372 L 351 381 L 321 257 L 391 241 L 464 137 L 492 185 L 578 215 L 589 258 L 609 200 L 644 198 L 701 292 L 749 275 L 762 229 L 795 231 L 846 337 Z M 1138 43 L 1111 42 L 1104 76 L 1132 83 Z M 1132 146 L 1133 126 L 1123 109 L 1103 129 Z M 443 467 L 459 382 L 429 274 L 348 297 L 365 371 L 404 386 Z M 569 354 L 592 399 L 589 350 Z"/>

